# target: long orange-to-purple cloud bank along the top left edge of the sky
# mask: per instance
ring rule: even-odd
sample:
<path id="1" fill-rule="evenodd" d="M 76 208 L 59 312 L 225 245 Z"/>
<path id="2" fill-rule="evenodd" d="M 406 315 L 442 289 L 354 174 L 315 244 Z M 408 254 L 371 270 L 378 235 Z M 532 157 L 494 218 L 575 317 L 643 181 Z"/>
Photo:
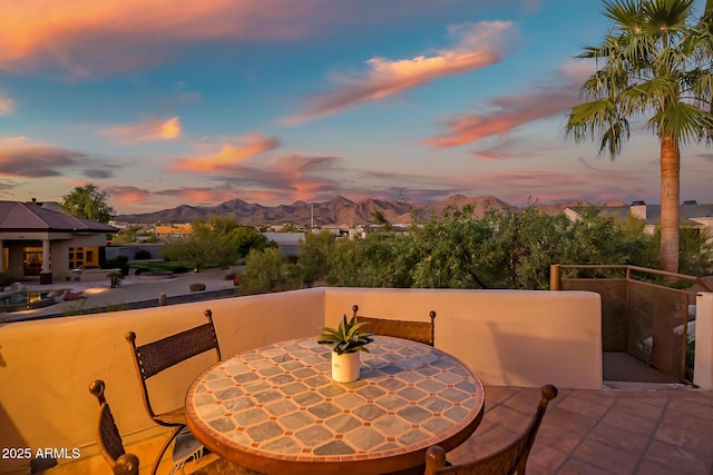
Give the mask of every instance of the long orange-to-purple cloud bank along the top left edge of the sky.
<path id="1" fill-rule="evenodd" d="M 468 4 L 465 0 L 449 3 L 443 7 L 440 2 L 417 0 L 6 1 L 0 29 L 3 46 L 0 70 L 26 71 L 50 66 L 77 77 L 110 73 L 164 62 L 191 43 L 291 41 L 355 24 L 360 28 L 388 24 Z"/>

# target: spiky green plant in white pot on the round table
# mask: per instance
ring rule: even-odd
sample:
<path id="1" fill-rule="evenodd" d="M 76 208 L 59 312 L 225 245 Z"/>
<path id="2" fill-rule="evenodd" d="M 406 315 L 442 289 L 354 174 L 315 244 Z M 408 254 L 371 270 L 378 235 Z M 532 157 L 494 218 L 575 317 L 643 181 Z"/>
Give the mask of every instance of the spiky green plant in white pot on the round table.
<path id="1" fill-rule="evenodd" d="M 367 323 L 360 323 L 356 316 L 346 320 L 343 316 L 338 328 L 322 327 L 322 335 L 316 343 L 332 348 L 332 379 L 338 383 L 351 383 L 359 379 L 360 353 L 369 353 L 369 345 L 373 342 L 372 331 L 363 330 Z"/>

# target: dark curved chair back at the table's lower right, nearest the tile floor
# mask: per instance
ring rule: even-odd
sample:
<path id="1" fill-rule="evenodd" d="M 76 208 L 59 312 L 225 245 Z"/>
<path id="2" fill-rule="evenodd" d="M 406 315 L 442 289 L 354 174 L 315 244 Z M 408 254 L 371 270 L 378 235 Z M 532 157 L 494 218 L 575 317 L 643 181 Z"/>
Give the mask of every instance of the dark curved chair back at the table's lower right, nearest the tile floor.
<path id="1" fill-rule="evenodd" d="M 525 475 L 527 458 L 535 444 L 537 431 L 543 422 L 547 405 L 557 397 L 557 388 L 545 385 L 535 417 L 527 429 L 506 447 L 486 457 L 458 465 L 446 466 L 446 452 L 438 445 L 426 452 L 426 475 Z"/>

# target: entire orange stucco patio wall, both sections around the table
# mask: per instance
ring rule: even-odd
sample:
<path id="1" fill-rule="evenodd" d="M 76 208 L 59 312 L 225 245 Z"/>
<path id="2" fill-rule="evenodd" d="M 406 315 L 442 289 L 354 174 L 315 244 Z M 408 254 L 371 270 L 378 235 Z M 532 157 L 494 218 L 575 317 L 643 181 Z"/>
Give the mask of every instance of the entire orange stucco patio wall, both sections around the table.
<path id="1" fill-rule="evenodd" d="M 202 323 L 211 308 L 225 358 L 315 336 L 353 304 L 364 315 L 392 318 L 428 320 L 436 310 L 436 346 L 471 365 L 488 385 L 602 385 L 597 294 L 315 288 L 0 326 L 0 447 L 96 453 L 97 403 L 88 392 L 96 378 L 107 383 L 126 438 L 155 433 L 125 340 L 129 330 L 140 345 Z M 209 364 L 206 355 L 159 376 L 159 405 L 183 404 L 185 388 Z M 28 466 L 29 459 L 0 458 L 0 473 L 28 473 Z"/>

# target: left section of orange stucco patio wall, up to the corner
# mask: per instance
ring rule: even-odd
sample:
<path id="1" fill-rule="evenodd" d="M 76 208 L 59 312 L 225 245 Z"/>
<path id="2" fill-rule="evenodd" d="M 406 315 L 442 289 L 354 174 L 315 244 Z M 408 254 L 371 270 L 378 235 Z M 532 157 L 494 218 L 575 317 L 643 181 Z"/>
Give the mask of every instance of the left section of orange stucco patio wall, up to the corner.
<path id="1" fill-rule="evenodd" d="M 156 425 L 140 399 L 127 331 L 137 334 L 138 345 L 149 343 L 204 323 L 209 308 L 228 357 L 315 335 L 324 321 L 323 295 L 309 289 L 0 326 L 0 447 L 28 447 L 32 455 L 45 447 L 78 447 L 82 457 L 95 454 L 98 405 L 88 387 L 97 378 L 107 384 L 121 434 L 150 436 Z M 189 368 L 157 376 L 153 389 L 163 397 L 158 410 L 182 405 L 185 389 L 212 357 L 201 355 Z M 28 467 L 29 459 L 0 458 L 0 473 L 28 474 Z"/>

